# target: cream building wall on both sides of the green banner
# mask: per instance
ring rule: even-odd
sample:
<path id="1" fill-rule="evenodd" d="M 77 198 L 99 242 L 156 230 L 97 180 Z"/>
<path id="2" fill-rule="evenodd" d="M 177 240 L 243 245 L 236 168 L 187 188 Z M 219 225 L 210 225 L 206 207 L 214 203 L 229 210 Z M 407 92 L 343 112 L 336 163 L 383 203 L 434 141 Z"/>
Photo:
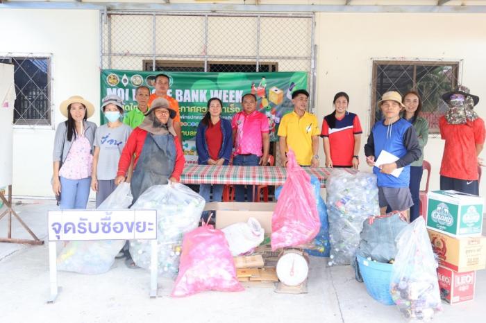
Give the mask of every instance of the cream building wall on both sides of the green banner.
<path id="1" fill-rule="evenodd" d="M 53 54 L 53 123 L 64 120 L 58 106 L 69 96 L 81 95 L 98 105 L 98 11 L 4 9 L 0 30 L 0 53 Z M 477 111 L 486 118 L 486 15 L 318 13 L 316 44 L 318 117 L 332 111 L 337 91 L 348 92 L 350 110 L 360 116 L 364 127 L 363 144 L 369 132 L 371 58 L 463 59 L 462 82 L 482 98 Z M 92 120 L 99 120 L 98 111 Z M 15 195 L 52 195 L 53 137 L 54 130 L 15 129 Z M 439 187 L 443 147 L 442 140 L 430 136 L 425 158 L 433 168 L 431 189 Z M 361 155 L 360 168 L 369 170 Z M 485 187 L 483 181 L 483 196 Z"/>

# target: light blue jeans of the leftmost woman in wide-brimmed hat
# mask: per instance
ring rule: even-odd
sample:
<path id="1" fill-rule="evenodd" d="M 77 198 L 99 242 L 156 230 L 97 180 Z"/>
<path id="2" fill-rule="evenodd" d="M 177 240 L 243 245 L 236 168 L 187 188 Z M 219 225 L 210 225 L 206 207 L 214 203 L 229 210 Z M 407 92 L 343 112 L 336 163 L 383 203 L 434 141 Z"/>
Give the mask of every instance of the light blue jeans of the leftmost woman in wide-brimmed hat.
<path id="1" fill-rule="evenodd" d="M 86 209 L 87 199 L 90 197 L 91 177 L 68 180 L 60 176 L 60 183 L 60 209 Z"/>

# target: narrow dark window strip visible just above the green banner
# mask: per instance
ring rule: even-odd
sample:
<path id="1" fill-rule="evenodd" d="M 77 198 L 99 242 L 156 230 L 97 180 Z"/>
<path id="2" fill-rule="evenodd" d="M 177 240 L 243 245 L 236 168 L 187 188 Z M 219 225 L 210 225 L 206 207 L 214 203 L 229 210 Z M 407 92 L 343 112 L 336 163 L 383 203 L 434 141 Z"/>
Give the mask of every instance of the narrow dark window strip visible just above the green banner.
<path id="1" fill-rule="evenodd" d="M 152 71 L 153 61 L 144 60 L 144 71 Z M 203 61 L 190 60 L 156 60 L 156 71 L 173 72 L 203 72 Z M 208 72 L 242 72 L 250 73 L 256 71 L 255 62 L 208 62 Z M 278 71 L 278 63 L 263 62 L 258 68 L 260 72 Z"/>

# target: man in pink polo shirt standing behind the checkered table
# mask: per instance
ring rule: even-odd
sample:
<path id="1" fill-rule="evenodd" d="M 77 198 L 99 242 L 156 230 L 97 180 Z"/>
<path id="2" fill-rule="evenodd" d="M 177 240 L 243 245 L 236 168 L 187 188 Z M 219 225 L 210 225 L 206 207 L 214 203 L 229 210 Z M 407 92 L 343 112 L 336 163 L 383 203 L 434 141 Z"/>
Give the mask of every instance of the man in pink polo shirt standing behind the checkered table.
<path id="1" fill-rule="evenodd" d="M 253 94 L 245 94 L 242 97 L 242 107 L 243 111 L 235 114 L 231 121 L 235 140 L 233 165 L 265 166 L 270 148 L 267 116 L 256 111 L 256 96 Z M 244 202 L 245 192 L 248 201 L 253 201 L 253 186 L 248 185 L 245 190 L 244 185 L 235 185 L 237 202 Z"/>

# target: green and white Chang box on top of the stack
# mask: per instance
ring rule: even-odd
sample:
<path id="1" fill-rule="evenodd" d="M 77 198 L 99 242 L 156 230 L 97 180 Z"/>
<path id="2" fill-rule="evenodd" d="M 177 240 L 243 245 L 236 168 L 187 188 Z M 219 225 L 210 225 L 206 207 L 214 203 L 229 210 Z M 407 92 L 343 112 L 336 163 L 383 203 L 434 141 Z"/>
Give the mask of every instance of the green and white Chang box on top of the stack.
<path id="1" fill-rule="evenodd" d="M 428 193 L 427 227 L 450 236 L 480 236 L 483 198 L 458 191 Z"/>

